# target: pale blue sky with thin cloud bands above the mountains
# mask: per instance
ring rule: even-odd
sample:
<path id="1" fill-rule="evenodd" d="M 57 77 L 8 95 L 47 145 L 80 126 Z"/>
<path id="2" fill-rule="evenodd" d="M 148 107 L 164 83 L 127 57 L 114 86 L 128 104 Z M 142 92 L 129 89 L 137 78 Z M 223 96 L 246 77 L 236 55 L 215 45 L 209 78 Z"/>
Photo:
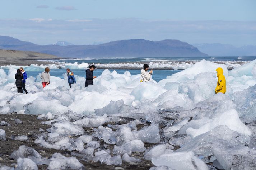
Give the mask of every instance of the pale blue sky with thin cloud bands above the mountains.
<path id="1" fill-rule="evenodd" d="M 178 39 L 256 45 L 255 0 L 0 0 L 0 35 L 36 44 Z"/>

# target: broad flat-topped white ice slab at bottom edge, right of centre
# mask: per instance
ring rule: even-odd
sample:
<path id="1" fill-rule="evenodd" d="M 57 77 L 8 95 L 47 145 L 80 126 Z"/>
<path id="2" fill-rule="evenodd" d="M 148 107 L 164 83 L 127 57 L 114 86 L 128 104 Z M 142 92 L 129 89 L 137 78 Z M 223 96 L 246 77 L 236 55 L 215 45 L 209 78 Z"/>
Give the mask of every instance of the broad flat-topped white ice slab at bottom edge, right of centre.
<path id="1" fill-rule="evenodd" d="M 155 166 L 169 166 L 180 170 L 208 170 L 208 166 L 194 155 L 193 152 L 173 152 L 153 157 Z"/>

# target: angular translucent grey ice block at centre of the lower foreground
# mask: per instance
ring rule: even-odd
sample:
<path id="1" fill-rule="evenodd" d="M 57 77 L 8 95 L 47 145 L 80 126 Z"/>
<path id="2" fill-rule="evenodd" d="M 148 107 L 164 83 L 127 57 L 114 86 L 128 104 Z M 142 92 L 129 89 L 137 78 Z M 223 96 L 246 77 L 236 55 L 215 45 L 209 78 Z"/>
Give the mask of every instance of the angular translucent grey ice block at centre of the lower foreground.
<path id="1" fill-rule="evenodd" d="M 144 126 L 140 131 L 132 131 L 136 139 L 147 143 L 158 143 L 160 141 L 158 124 L 149 127 Z"/>

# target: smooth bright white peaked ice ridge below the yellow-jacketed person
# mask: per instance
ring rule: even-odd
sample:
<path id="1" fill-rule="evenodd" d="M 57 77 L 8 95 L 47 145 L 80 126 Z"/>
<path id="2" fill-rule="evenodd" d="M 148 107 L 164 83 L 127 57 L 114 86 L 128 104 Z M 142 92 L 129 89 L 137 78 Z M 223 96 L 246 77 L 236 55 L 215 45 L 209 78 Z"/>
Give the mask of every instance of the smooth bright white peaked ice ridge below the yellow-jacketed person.
<path id="1" fill-rule="evenodd" d="M 199 129 L 193 129 L 190 127 L 186 130 L 186 133 L 193 138 L 214 129 L 214 127 L 219 125 L 226 125 L 230 129 L 246 136 L 250 136 L 252 133 L 251 130 L 241 122 L 235 109 L 222 113 L 219 117 L 216 117 L 211 122 L 201 126 Z"/>

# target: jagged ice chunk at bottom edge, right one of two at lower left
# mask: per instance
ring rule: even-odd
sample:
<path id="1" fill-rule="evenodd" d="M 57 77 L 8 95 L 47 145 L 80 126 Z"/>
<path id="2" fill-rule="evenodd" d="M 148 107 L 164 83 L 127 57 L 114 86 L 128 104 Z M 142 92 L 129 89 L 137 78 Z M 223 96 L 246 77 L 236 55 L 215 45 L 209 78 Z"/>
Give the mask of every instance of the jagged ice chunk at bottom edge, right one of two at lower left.
<path id="1" fill-rule="evenodd" d="M 55 153 L 50 158 L 49 170 L 55 169 L 82 169 L 84 166 L 75 157 L 65 157 Z"/>

